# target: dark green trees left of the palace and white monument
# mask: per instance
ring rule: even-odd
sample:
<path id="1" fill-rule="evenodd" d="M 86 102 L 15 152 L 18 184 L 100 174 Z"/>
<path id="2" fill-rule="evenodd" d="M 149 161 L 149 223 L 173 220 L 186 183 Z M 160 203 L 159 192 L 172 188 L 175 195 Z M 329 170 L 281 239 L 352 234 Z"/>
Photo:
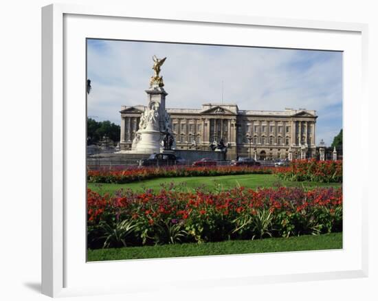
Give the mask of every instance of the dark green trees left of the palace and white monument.
<path id="1" fill-rule="evenodd" d="M 109 120 L 98 122 L 87 118 L 88 144 L 96 144 L 106 135 L 113 142 L 120 141 L 120 126 Z"/>

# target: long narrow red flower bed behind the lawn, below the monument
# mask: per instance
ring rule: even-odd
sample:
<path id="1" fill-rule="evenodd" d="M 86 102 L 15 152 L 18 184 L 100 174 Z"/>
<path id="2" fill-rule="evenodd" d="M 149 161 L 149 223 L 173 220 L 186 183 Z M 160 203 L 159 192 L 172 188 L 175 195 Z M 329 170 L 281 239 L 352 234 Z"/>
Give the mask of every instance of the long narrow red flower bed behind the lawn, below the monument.
<path id="1" fill-rule="evenodd" d="M 214 177 L 221 175 L 271 174 L 274 168 L 248 166 L 157 167 L 126 170 L 88 170 L 90 183 L 130 183 L 158 177 Z"/>

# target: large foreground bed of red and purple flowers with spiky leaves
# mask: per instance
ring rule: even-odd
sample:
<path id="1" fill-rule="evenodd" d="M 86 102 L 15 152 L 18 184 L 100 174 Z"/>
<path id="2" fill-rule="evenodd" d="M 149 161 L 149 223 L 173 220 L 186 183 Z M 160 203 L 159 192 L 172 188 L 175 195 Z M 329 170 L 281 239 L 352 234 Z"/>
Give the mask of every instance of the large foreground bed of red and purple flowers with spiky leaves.
<path id="1" fill-rule="evenodd" d="M 342 231 L 342 189 L 171 187 L 113 197 L 87 191 L 88 247 L 225 241 Z"/>

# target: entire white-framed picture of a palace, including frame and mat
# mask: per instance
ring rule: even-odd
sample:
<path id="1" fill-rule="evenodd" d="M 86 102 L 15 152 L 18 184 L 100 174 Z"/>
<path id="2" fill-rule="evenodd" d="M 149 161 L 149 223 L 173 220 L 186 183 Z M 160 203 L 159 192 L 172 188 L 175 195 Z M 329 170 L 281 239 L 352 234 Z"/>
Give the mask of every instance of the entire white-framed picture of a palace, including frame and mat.
<path id="1" fill-rule="evenodd" d="M 43 293 L 367 276 L 366 25 L 42 12 Z"/>

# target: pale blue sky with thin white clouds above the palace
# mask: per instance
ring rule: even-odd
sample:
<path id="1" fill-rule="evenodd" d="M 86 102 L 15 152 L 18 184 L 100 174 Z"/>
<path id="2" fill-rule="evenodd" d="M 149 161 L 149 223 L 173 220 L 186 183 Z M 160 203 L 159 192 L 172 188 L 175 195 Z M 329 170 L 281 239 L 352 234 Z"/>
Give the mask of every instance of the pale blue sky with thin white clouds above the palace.
<path id="1" fill-rule="evenodd" d="M 223 103 L 239 109 L 316 110 L 316 144 L 329 146 L 342 129 L 342 52 L 263 47 L 89 39 L 88 116 L 120 124 L 122 105 L 147 105 L 153 55 L 167 57 L 168 108 L 220 103 L 223 90 Z"/>

